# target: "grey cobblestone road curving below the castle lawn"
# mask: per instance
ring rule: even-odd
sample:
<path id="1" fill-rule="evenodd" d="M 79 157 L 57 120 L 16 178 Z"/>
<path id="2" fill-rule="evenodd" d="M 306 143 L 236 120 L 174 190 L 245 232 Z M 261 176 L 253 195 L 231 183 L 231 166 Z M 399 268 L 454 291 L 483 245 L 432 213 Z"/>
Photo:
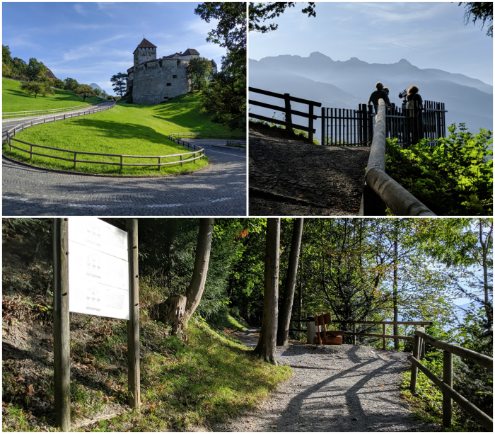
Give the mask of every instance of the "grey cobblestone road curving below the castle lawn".
<path id="1" fill-rule="evenodd" d="M 246 152 L 225 141 L 189 140 L 211 164 L 183 176 L 108 178 L 2 161 L 2 215 L 246 215 Z"/>

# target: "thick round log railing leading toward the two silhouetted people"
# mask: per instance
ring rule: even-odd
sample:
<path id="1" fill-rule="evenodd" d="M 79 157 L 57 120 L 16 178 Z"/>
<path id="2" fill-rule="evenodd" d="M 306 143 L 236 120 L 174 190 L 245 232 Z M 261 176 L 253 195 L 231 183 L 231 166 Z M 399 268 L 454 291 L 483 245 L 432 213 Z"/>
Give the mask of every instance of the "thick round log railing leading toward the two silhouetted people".
<path id="1" fill-rule="evenodd" d="M 400 183 L 385 173 L 385 102 L 380 99 L 368 166 L 364 176 L 363 197 L 359 215 L 386 215 L 389 207 L 397 216 L 435 215 Z"/>

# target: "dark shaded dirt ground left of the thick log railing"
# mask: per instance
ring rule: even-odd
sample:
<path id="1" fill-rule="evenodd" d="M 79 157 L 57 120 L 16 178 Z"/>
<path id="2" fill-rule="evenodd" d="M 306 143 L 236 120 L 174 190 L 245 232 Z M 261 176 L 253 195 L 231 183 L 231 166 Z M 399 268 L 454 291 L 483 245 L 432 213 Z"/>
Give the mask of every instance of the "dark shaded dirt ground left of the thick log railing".
<path id="1" fill-rule="evenodd" d="M 249 215 L 358 215 L 369 151 L 250 122 Z"/>

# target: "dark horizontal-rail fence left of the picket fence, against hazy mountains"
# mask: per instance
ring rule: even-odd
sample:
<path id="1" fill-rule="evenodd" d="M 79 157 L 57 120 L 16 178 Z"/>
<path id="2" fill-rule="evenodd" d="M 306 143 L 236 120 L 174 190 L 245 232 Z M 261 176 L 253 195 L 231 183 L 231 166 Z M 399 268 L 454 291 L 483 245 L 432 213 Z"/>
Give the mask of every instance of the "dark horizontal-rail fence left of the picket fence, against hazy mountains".
<path id="1" fill-rule="evenodd" d="M 281 111 L 285 113 L 285 120 L 278 120 L 278 119 L 272 119 L 268 118 L 267 116 L 262 116 L 262 115 L 257 115 L 256 113 L 249 113 L 250 118 L 255 118 L 259 120 L 264 120 L 265 122 L 270 122 L 274 123 L 277 125 L 284 125 L 288 130 L 296 128 L 298 130 L 303 130 L 308 132 L 308 138 L 311 143 L 313 143 L 313 135 L 316 132 L 316 129 L 314 128 L 314 121 L 318 118 L 317 115 L 314 113 L 314 108 L 315 107 L 321 107 L 321 103 L 317 103 L 315 101 L 309 101 L 303 98 L 296 98 L 295 96 L 290 96 L 289 93 L 274 93 L 270 91 L 264 91 L 262 89 L 250 87 L 249 88 L 250 92 L 254 93 L 260 93 L 261 95 L 266 95 L 266 96 L 272 96 L 273 98 L 279 98 L 284 100 L 284 107 L 281 107 L 279 105 L 273 105 L 273 104 L 267 104 L 267 103 L 262 103 L 261 101 L 255 101 L 250 99 L 249 103 L 251 105 L 258 105 L 263 108 L 270 108 L 272 110 L 276 111 Z M 308 113 L 301 112 L 299 110 L 292 110 L 291 108 L 291 101 L 294 103 L 301 103 L 308 105 Z M 301 116 L 303 118 L 308 118 L 308 126 L 306 125 L 297 125 L 292 122 L 292 116 Z"/>

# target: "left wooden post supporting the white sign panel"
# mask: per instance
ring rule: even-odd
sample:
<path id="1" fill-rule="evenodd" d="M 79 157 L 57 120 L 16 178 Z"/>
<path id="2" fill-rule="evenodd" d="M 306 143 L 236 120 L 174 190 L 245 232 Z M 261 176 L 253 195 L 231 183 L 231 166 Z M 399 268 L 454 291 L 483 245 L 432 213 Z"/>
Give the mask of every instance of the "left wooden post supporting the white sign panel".
<path id="1" fill-rule="evenodd" d="M 71 430 L 71 365 L 69 334 L 69 246 L 67 219 L 53 222 L 53 357 L 55 423 Z"/>

